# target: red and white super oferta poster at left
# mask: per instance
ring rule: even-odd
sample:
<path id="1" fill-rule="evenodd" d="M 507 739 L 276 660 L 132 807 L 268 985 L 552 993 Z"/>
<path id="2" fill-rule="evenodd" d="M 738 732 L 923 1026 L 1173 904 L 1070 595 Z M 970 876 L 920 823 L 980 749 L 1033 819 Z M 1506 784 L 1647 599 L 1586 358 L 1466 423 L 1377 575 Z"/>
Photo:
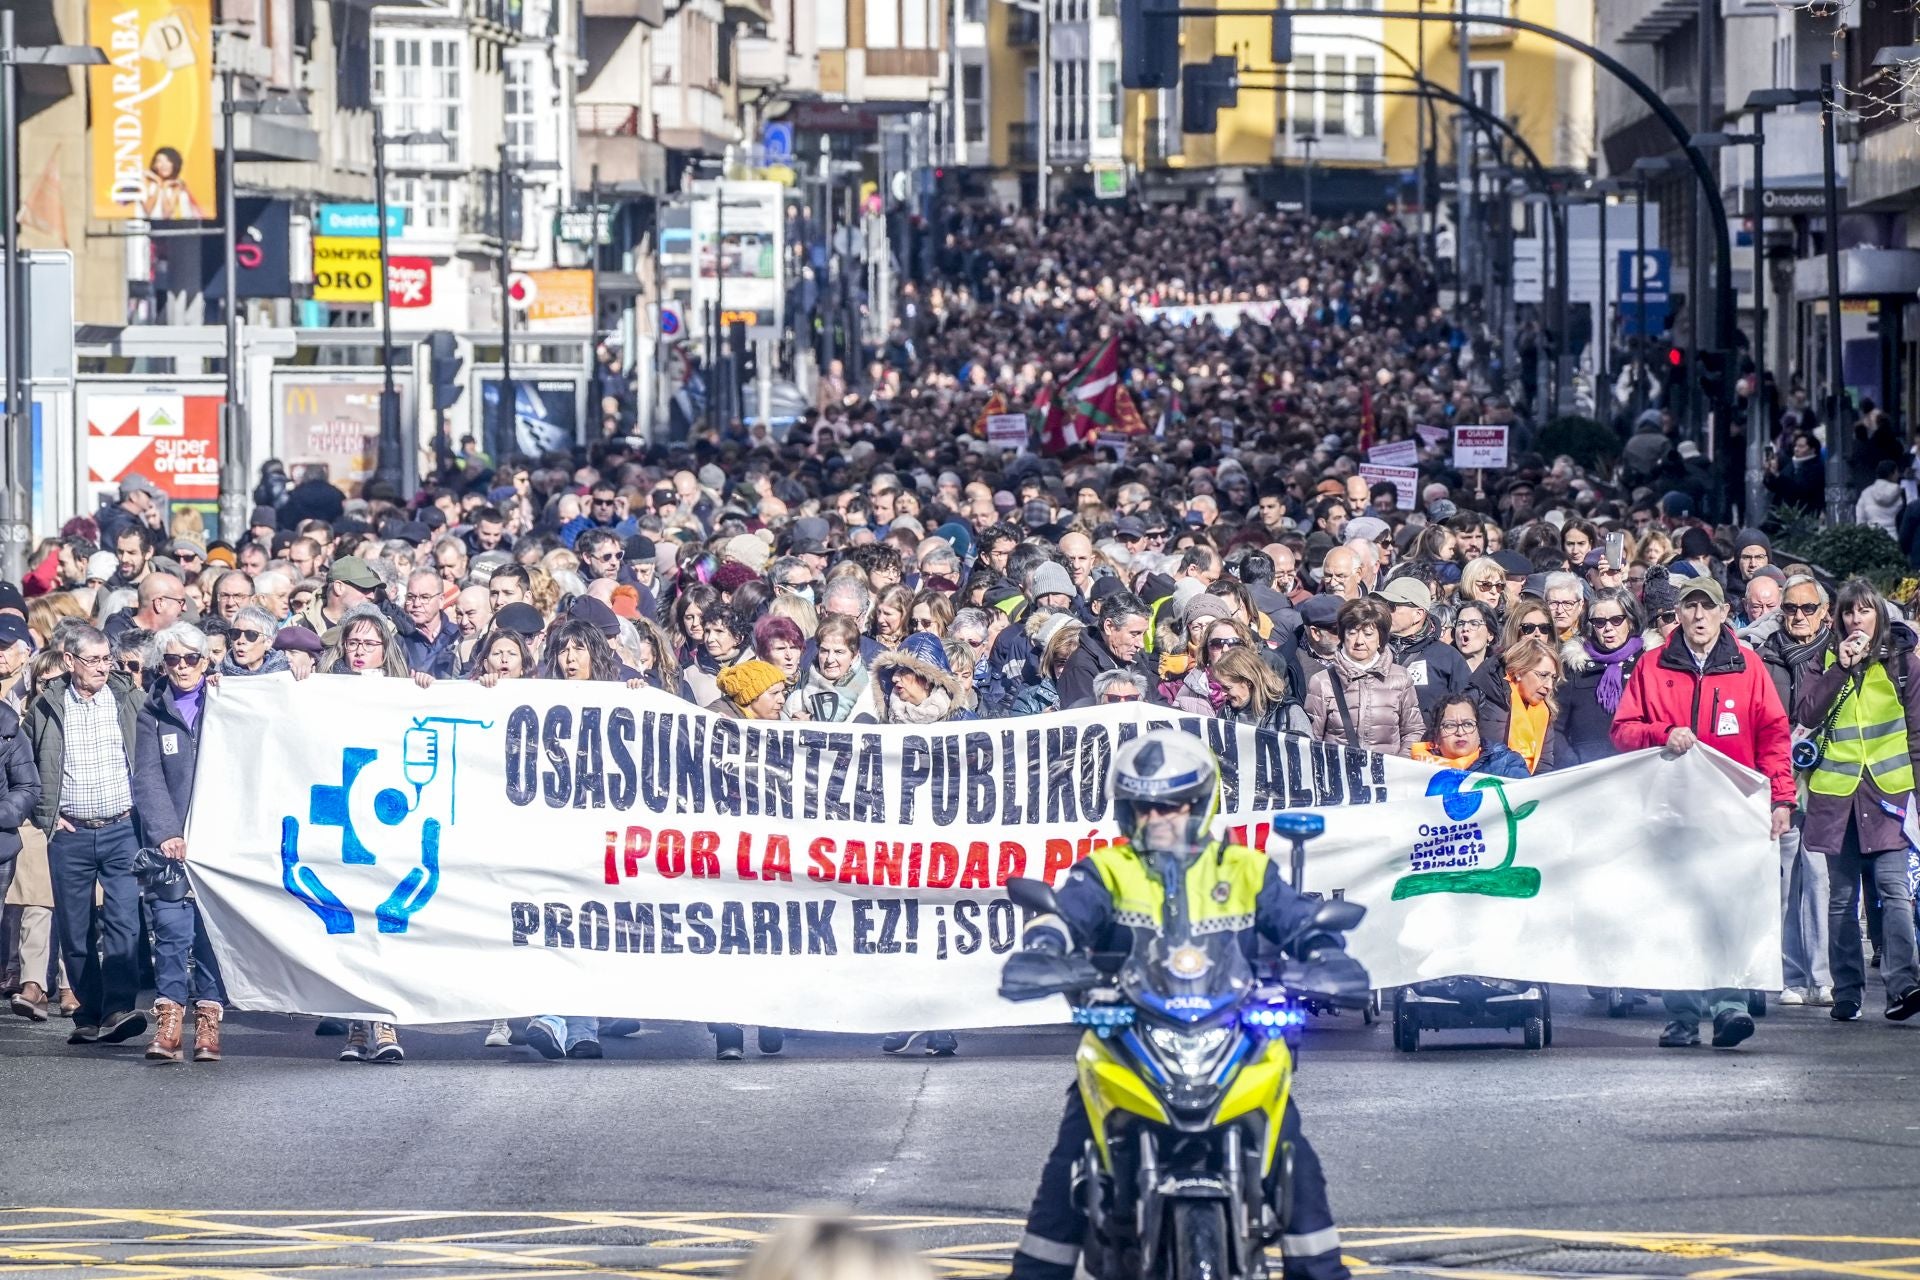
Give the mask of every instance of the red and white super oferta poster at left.
<path id="1" fill-rule="evenodd" d="M 86 418 L 86 489 L 117 493 L 138 472 L 175 507 L 217 510 L 221 497 L 221 386 L 81 382 Z"/>

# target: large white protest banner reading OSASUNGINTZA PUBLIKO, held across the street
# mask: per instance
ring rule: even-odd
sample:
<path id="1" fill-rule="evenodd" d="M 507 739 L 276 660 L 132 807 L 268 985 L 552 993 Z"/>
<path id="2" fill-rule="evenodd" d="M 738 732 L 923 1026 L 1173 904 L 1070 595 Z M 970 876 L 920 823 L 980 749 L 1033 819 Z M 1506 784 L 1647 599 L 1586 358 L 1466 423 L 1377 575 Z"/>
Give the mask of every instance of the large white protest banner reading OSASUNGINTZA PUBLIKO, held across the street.
<path id="1" fill-rule="evenodd" d="M 1114 835 L 1106 773 L 1204 735 L 1223 829 L 1369 908 L 1382 986 L 1780 986 L 1766 787 L 1707 750 L 1498 781 L 1158 708 L 758 723 L 605 683 L 315 676 L 211 697 L 188 862 L 240 1007 L 822 1031 L 1060 1019 L 995 996 L 1008 875 Z M 294 729 L 298 725 L 298 729 Z"/>

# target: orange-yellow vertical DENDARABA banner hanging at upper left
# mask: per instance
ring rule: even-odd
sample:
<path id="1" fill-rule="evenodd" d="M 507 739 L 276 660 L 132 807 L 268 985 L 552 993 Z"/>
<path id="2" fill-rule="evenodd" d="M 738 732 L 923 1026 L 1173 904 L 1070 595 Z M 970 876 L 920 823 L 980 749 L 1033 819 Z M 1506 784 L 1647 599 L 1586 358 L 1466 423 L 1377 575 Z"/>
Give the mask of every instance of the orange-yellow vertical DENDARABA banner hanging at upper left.
<path id="1" fill-rule="evenodd" d="M 88 0 L 86 15 L 108 54 L 88 73 L 94 217 L 215 217 L 209 0 Z"/>

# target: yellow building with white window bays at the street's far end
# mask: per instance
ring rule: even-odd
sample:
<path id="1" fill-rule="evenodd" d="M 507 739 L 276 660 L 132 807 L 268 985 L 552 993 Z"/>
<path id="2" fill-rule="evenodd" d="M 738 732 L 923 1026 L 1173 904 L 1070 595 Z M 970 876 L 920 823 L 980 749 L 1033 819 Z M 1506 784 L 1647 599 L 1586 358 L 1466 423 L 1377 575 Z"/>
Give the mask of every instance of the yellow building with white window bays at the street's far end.
<path id="1" fill-rule="evenodd" d="M 977 102 L 968 163 L 987 167 L 1006 198 L 1031 203 L 1041 138 L 1041 23 L 1037 6 L 958 0 L 977 13 L 977 46 L 962 50 L 962 98 Z M 1359 17 L 1340 10 L 1384 8 L 1469 19 L 1507 15 L 1594 36 L 1596 0 L 1288 0 L 1294 58 L 1271 61 L 1271 19 L 1188 17 L 1183 65 L 1233 58 L 1238 102 L 1212 132 L 1181 129 L 1179 90 L 1119 90 L 1117 0 L 1046 0 L 1048 182 L 1054 194 L 1089 184 L 1094 169 L 1125 165 L 1148 198 L 1298 200 L 1311 154 L 1317 207 L 1411 203 L 1423 100 L 1407 96 L 1425 77 L 1461 88 L 1461 25 Z M 966 29 L 966 27 L 964 27 Z M 962 46 L 973 44 L 962 36 Z M 973 67 L 973 69 L 968 69 Z M 1596 69 L 1548 36 L 1473 21 L 1467 33 L 1469 96 L 1511 123 L 1542 163 L 1586 173 L 1594 150 Z M 1380 92 L 1384 90 L 1384 92 Z M 972 106 L 972 104 L 970 104 Z M 1438 106 L 1434 163 L 1453 171 L 1453 117 Z M 970 117 L 972 121 L 973 117 Z M 1476 144 L 1484 148 L 1482 144 Z M 1476 150 L 1476 157 L 1480 152 Z"/>

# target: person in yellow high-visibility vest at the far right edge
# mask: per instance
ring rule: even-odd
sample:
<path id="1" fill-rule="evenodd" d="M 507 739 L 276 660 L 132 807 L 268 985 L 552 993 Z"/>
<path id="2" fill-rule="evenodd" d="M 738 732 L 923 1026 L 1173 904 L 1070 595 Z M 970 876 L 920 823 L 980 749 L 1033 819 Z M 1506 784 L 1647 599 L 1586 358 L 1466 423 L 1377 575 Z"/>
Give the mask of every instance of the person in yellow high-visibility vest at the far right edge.
<path id="1" fill-rule="evenodd" d="M 1872 583 L 1853 578 L 1834 599 L 1826 649 L 1807 658 L 1793 720 L 1812 729 L 1818 762 L 1807 770 L 1807 848 L 1828 856 L 1828 960 L 1834 1019 L 1860 1017 L 1866 961 L 1860 877 L 1880 890 L 1880 975 L 1887 1017 L 1920 1013 L 1914 894 L 1903 819 L 1914 802 L 1920 750 L 1920 660 L 1912 628 L 1895 622 Z"/>

